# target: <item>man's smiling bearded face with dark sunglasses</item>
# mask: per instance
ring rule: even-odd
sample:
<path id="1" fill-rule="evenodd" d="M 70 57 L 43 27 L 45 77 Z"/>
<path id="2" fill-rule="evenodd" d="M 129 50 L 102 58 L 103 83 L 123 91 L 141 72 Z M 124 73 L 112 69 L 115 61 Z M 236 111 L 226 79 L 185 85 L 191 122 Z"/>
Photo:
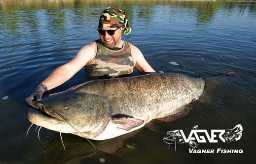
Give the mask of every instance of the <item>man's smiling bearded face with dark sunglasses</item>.
<path id="1" fill-rule="evenodd" d="M 115 30 L 117 28 L 99 28 L 103 30 Z M 113 35 L 109 35 L 108 32 L 106 31 L 104 35 L 100 34 L 100 39 L 102 43 L 105 45 L 107 48 L 114 48 L 120 44 L 121 41 L 121 36 L 122 36 L 122 31 L 120 28 L 118 28 Z"/>

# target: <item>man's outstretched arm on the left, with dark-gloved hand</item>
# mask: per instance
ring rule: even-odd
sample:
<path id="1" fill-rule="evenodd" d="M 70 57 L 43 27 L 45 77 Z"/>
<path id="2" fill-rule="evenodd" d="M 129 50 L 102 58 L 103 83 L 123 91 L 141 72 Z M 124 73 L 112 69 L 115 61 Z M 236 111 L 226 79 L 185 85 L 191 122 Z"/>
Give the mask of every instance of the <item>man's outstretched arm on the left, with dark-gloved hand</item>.
<path id="1" fill-rule="evenodd" d="M 43 82 L 37 85 L 34 92 L 26 99 L 27 103 L 35 107 L 32 103 L 34 99 L 41 101 L 42 95 L 47 90 L 53 89 L 72 78 L 76 72 L 93 59 L 95 52 L 96 46 L 93 42 L 82 47 L 71 61 L 56 68 Z"/>

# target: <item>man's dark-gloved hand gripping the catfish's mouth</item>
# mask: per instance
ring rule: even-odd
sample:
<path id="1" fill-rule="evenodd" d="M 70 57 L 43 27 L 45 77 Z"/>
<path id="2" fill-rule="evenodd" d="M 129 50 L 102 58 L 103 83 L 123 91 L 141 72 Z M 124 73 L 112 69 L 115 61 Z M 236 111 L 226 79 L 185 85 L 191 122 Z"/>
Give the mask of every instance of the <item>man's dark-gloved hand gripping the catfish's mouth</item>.
<path id="1" fill-rule="evenodd" d="M 33 103 L 32 100 L 36 99 L 36 101 L 41 101 L 42 100 L 42 95 L 47 92 L 47 86 L 40 83 L 39 85 L 37 85 L 36 89 L 34 90 L 34 92 L 28 97 L 26 98 L 26 101 L 28 103 L 28 105 L 37 108 Z M 37 108 L 38 109 L 38 108 Z"/>

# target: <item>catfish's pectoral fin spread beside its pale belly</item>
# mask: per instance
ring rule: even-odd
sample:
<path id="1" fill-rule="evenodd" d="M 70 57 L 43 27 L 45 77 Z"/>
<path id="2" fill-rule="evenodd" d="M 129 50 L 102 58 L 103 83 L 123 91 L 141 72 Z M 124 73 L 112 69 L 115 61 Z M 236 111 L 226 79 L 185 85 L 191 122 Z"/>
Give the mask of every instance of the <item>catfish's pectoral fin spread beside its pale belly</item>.
<path id="1" fill-rule="evenodd" d="M 144 123 L 144 120 L 130 117 L 115 117 L 112 118 L 112 123 L 118 124 L 119 129 L 123 129 L 125 131 L 129 131 L 133 128 L 136 128 Z"/>

